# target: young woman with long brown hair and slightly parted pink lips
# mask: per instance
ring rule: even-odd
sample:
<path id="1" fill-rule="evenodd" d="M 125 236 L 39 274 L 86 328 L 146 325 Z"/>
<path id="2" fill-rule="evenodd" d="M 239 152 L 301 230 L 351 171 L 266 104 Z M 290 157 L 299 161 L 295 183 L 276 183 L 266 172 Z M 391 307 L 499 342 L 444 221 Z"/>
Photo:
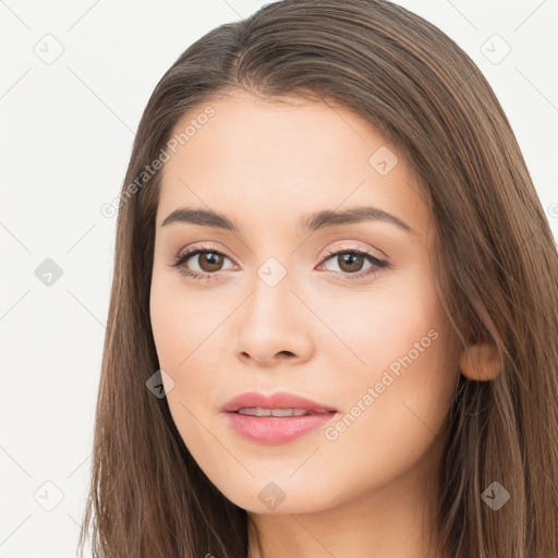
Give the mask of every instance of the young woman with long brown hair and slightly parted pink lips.
<path id="1" fill-rule="evenodd" d="M 558 257 L 493 90 L 385 1 L 222 25 L 143 114 L 96 556 L 558 556 Z"/>

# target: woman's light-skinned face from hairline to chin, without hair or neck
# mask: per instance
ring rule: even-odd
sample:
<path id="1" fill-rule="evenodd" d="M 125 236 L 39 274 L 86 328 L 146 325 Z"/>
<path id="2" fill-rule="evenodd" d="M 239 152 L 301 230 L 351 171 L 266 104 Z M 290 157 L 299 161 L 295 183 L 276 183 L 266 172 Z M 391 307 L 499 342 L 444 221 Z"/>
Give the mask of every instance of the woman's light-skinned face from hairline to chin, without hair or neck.
<path id="1" fill-rule="evenodd" d="M 197 123 L 163 166 L 150 292 L 178 430 L 215 486 L 256 513 L 430 477 L 459 373 L 432 220 L 402 154 L 345 108 L 283 100 L 235 93 L 177 125 Z M 344 218 L 313 219 L 323 211 Z M 250 391 L 332 412 L 222 411 Z"/>

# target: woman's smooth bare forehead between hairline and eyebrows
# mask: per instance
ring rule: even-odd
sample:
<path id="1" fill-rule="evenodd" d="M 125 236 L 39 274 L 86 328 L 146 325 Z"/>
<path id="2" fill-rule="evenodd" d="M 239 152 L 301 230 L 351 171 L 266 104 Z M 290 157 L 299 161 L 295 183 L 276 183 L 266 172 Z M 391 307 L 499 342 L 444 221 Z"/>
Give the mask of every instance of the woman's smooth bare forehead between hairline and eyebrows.
<path id="1" fill-rule="evenodd" d="M 427 219 L 402 154 L 335 100 L 267 101 L 236 92 L 189 110 L 172 137 L 158 223 L 178 207 L 204 205 L 260 222 L 357 205 L 380 207 L 416 229 Z"/>

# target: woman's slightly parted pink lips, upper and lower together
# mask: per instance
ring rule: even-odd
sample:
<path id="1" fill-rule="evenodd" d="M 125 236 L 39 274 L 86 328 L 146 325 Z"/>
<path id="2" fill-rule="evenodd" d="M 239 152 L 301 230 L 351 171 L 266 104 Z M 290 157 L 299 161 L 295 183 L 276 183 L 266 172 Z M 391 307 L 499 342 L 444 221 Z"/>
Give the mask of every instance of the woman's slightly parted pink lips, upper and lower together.
<path id="1" fill-rule="evenodd" d="M 250 416 L 239 409 L 303 409 L 302 416 Z M 324 426 L 338 414 L 337 410 L 304 397 L 287 392 L 264 396 L 257 391 L 242 393 L 223 405 L 229 425 L 241 436 L 263 444 L 284 444 L 314 428 Z"/>

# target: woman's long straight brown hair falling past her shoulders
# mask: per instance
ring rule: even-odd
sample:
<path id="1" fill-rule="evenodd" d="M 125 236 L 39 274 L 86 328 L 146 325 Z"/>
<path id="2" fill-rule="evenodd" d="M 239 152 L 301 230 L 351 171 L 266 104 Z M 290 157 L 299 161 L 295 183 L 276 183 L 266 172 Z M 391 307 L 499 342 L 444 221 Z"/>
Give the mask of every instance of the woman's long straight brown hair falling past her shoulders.
<path id="1" fill-rule="evenodd" d="M 238 90 L 332 99 L 399 149 L 435 232 L 436 287 L 464 348 L 496 348 L 499 375 L 460 375 L 438 488 L 439 551 L 558 556 L 558 254 L 493 89 L 440 29 L 380 0 L 284 0 L 220 25 L 165 73 L 145 108 L 122 185 L 114 274 L 80 535 L 94 556 L 247 555 L 246 510 L 185 447 L 166 398 L 149 318 L 161 172 L 137 184 L 190 110 Z M 510 494 L 498 511 L 482 494 Z M 83 556 L 83 554 L 82 554 Z"/>

